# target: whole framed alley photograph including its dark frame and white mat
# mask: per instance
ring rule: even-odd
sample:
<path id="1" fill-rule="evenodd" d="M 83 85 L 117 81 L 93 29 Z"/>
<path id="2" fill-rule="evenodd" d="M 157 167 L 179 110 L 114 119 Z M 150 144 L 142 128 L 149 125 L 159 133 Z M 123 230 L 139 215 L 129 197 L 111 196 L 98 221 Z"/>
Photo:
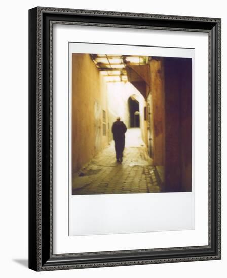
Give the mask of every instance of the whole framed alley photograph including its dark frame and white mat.
<path id="1" fill-rule="evenodd" d="M 221 19 L 29 10 L 29 268 L 221 259 Z"/>

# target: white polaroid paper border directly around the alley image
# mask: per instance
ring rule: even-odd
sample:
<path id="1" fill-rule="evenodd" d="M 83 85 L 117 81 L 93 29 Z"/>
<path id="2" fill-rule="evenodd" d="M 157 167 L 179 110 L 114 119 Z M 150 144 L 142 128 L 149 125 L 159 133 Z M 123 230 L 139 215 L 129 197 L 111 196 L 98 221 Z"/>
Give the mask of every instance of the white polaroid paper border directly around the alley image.
<path id="1" fill-rule="evenodd" d="M 184 57 L 192 59 L 192 68 L 194 68 L 194 49 L 69 43 L 69 235 L 84 236 L 194 229 L 194 182 L 192 182 L 192 192 L 71 194 L 72 53 Z M 116 103 L 116 105 L 118 104 Z M 81 138 L 81 140 L 86 140 L 86 138 Z"/>

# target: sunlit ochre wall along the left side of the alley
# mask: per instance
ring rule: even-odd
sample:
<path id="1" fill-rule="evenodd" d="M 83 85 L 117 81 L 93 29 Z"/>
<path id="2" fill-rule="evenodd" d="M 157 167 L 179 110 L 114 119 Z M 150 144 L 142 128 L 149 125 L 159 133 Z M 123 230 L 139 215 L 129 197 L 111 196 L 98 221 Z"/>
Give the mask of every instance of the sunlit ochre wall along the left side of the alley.
<path id="1" fill-rule="evenodd" d="M 108 144 L 106 84 L 89 54 L 72 54 L 72 173 Z M 106 136 L 103 136 L 103 110 Z"/>

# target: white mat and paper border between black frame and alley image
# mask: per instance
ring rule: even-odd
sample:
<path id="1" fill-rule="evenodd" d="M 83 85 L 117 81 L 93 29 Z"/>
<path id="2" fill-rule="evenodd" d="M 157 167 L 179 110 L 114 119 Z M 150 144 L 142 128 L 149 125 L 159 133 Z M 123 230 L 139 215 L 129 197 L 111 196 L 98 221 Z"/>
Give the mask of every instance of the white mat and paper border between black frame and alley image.
<path id="1" fill-rule="evenodd" d="M 68 49 L 68 43 L 73 41 L 87 43 L 70 43 Z M 139 47 L 127 46 L 128 44 L 138 45 L 138 42 L 141 45 Z M 144 47 L 144 45 L 156 45 L 162 48 Z M 70 85 L 68 87 L 68 81 L 70 84 L 71 63 L 69 62 L 68 68 L 68 50 L 69 58 L 72 52 L 80 52 L 191 57 L 193 59 L 194 76 L 197 78 L 195 80 L 193 78 L 195 81 L 193 86 L 195 91 L 193 180 L 195 182 L 192 192 L 71 195 L 69 180 L 71 175 L 68 168 L 70 164 L 68 149 L 70 140 L 68 133 L 70 126 L 68 96 L 70 94 L 68 95 L 68 90 L 70 92 Z M 53 111 L 53 253 L 208 244 L 207 34 L 54 25 Z M 137 233 L 138 231 L 146 233 Z M 112 234 L 103 235 L 108 233 Z M 69 236 L 69 234 L 78 236 Z"/>

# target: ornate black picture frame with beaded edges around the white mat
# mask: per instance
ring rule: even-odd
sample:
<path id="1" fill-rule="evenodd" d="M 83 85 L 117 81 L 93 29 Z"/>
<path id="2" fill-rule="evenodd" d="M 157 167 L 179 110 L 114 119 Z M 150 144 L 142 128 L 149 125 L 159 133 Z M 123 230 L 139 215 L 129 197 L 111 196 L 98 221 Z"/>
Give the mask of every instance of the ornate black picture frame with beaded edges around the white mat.
<path id="1" fill-rule="evenodd" d="M 53 254 L 52 26 L 209 34 L 209 245 Z M 37 7 L 29 10 L 29 268 L 36 271 L 221 259 L 221 19 Z"/>

